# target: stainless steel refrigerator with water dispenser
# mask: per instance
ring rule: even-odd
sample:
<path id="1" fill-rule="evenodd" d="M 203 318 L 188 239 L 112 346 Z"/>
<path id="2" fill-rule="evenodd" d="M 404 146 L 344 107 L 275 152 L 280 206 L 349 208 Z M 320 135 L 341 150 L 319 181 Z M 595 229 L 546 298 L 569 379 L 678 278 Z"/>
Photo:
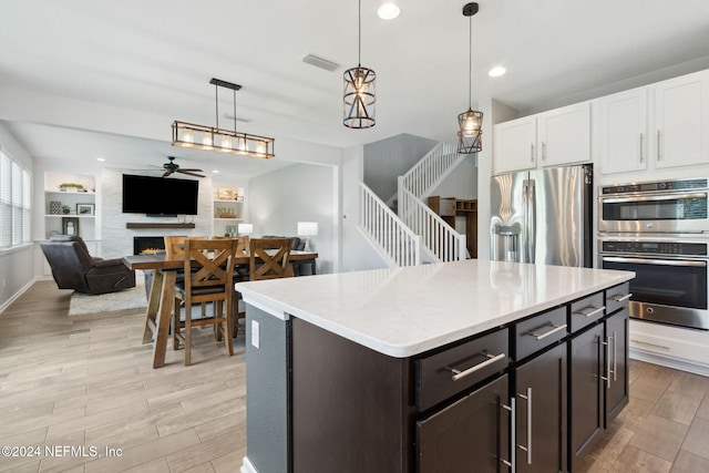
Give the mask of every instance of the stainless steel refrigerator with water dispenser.
<path id="1" fill-rule="evenodd" d="M 592 165 L 493 176 L 491 258 L 592 267 Z"/>

